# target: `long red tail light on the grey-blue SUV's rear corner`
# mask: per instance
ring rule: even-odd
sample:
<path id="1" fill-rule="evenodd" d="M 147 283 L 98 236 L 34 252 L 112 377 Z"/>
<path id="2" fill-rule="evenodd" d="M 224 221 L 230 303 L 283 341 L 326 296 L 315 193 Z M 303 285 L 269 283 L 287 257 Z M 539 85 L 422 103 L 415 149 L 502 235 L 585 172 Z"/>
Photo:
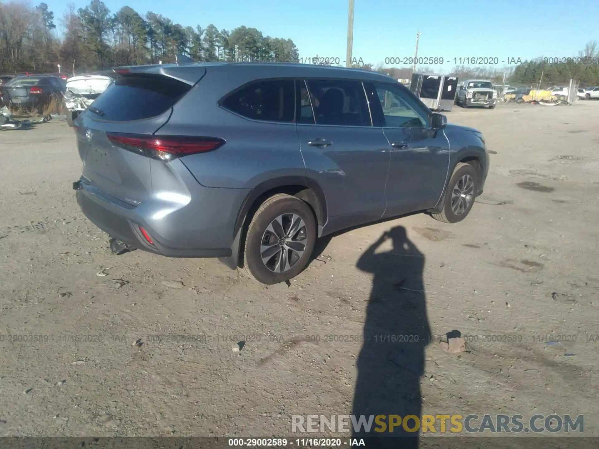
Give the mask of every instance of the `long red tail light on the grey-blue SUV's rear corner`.
<path id="1" fill-rule="evenodd" d="M 169 162 L 189 154 L 207 153 L 222 147 L 225 140 L 216 137 L 149 136 L 107 134 L 113 145 L 142 156 Z"/>

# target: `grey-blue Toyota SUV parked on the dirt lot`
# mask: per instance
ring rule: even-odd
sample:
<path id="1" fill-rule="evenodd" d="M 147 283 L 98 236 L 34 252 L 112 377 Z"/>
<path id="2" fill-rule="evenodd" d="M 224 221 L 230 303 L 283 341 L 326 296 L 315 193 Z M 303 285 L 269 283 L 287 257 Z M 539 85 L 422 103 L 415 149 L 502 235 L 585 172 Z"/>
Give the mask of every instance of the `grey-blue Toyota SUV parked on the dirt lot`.
<path id="1" fill-rule="evenodd" d="M 476 129 L 359 69 L 203 63 L 116 69 L 75 121 L 73 188 L 111 250 L 220 257 L 295 277 L 317 238 L 425 211 L 463 220 L 488 172 Z"/>

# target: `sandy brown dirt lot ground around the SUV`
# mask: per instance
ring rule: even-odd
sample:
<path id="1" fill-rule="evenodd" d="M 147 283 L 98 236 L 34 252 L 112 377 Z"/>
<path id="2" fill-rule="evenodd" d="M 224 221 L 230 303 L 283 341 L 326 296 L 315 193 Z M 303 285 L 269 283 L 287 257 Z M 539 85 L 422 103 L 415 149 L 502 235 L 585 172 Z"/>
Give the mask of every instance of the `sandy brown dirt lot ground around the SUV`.
<path id="1" fill-rule="evenodd" d="M 340 233 L 271 287 L 112 256 L 66 123 L 0 132 L 0 435 L 288 436 L 294 414 L 409 411 L 585 414 L 599 436 L 599 102 L 447 116 L 497 152 L 464 222 Z M 438 344 L 453 329 L 460 354 Z"/>

